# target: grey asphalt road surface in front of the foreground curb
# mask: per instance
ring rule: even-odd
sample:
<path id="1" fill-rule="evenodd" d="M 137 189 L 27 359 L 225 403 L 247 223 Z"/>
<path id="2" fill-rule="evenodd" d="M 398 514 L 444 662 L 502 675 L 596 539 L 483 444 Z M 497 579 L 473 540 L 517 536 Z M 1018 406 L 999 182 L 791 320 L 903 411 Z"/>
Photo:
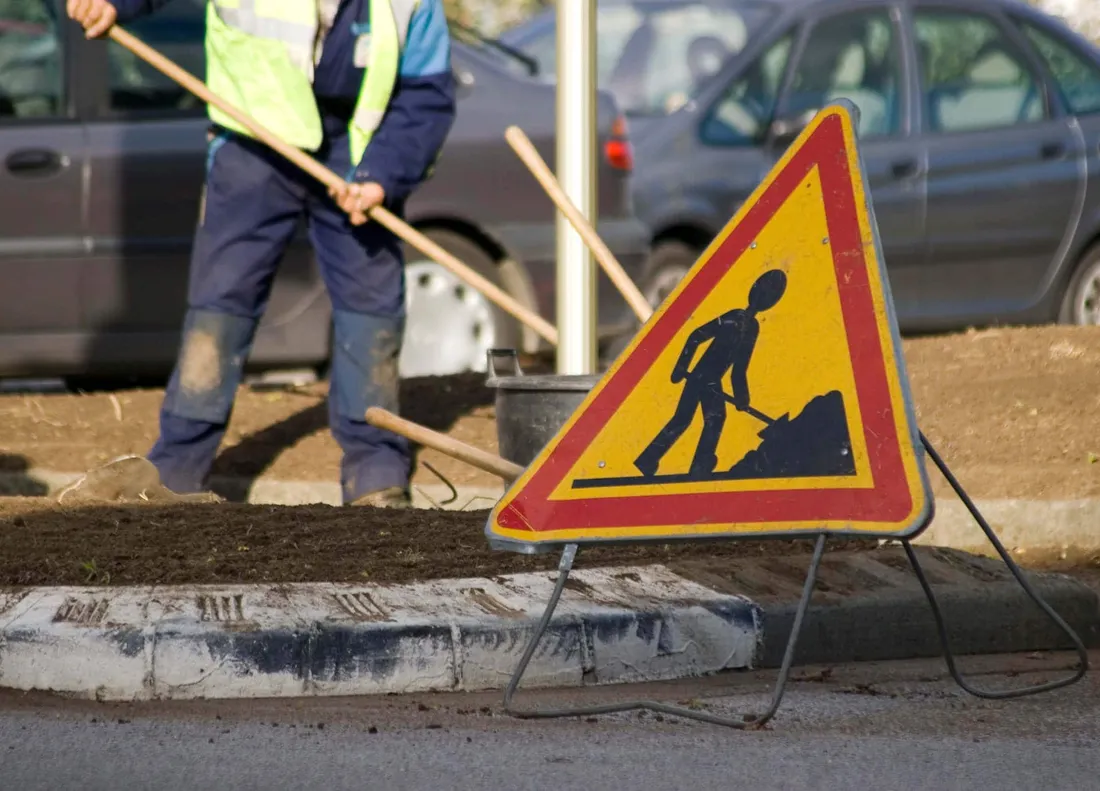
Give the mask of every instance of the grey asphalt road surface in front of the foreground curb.
<path id="1" fill-rule="evenodd" d="M 1035 683 L 1071 658 L 992 657 L 987 685 Z M 1100 662 L 1100 653 L 1093 656 Z M 992 668 L 1009 674 L 988 673 Z M 277 789 L 821 789 L 1080 791 L 1100 778 L 1100 681 L 990 703 L 939 662 L 796 671 L 766 730 L 650 714 L 521 722 L 497 695 L 106 705 L 0 696 L 0 788 L 20 791 Z M 531 694 L 563 704 L 638 693 L 730 713 L 770 673 Z"/>

